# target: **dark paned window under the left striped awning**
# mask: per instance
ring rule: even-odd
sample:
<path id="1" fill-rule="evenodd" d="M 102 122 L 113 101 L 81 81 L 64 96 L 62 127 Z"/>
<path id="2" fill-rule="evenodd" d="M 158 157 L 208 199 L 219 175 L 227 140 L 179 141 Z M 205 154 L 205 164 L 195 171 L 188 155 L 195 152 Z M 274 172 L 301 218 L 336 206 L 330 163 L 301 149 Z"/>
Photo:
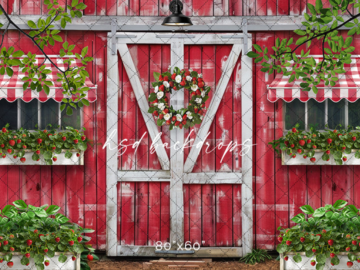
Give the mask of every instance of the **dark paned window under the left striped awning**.
<path id="1" fill-rule="evenodd" d="M 9 123 L 9 129 L 23 127 L 28 130 L 44 129 L 47 124 L 53 127 L 69 125 L 80 128 L 81 109 L 74 109 L 72 115 L 66 115 L 65 111 L 60 111 L 60 104 L 53 99 L 48 99 L 46 102 L 40 102 L 37 99 L 24 102 L 18 98 L 14 102 L 9 102 L 2 98 L 0 99 L 0 126 Z"/>

